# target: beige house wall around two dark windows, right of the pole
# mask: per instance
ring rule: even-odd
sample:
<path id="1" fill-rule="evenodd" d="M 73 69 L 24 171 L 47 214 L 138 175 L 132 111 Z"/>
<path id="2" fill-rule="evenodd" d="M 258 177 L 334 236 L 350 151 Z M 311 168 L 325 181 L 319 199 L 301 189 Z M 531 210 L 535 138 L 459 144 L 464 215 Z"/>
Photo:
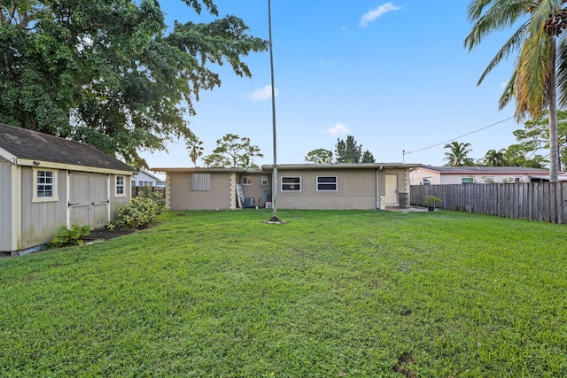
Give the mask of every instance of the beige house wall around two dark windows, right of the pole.
<path id="1" fill-rule="evenodd" d="M 337 191 L 317 191 L 318 176 L 337 176 Z M 301 191 L 282 191 L 283 177 L 301 177 Z M 284 209 L 376 209 L 377 171 L 278 171 L 277 206 Z"/>

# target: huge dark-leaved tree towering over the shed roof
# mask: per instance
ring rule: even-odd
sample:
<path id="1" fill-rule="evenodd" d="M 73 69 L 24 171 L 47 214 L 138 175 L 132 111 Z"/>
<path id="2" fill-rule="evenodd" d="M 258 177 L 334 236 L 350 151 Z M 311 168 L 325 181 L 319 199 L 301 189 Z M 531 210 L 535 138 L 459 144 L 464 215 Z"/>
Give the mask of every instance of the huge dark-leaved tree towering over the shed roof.
<path id="1" fill-rule="evenodd" d="M 0 121 L 145 166 L 138 151 L 190 135 L 199 91 L 221 85 L 209 66 L 251 76 L 241 59 L 267 49 L 213 0 L 183 3 L 215 19 L 168 29 L 157 0 L 2 1 Z"/>

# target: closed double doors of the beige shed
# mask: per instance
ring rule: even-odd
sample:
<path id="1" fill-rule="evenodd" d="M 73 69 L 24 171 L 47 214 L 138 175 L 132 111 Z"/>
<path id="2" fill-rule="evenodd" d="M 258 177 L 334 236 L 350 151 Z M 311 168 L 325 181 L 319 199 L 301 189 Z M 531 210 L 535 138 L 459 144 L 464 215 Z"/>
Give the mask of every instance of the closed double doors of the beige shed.
<path id="1" fill-rule="evenodd" d="M 108 178 L 105 174 L 69 174 L 69 223 L 101 228 L 108 222 Z"/>

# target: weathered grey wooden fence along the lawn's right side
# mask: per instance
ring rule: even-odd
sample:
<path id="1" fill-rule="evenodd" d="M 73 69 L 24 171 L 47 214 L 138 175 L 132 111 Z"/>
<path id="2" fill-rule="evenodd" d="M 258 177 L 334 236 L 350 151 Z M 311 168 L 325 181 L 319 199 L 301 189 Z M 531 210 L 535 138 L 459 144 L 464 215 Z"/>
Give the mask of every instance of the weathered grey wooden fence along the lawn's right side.
<path id="1" fill-rule="evenodd" d="M 439 197 L 441 209 L 567 224 L 567 182 L 413 185 L 410 203 Z"/>

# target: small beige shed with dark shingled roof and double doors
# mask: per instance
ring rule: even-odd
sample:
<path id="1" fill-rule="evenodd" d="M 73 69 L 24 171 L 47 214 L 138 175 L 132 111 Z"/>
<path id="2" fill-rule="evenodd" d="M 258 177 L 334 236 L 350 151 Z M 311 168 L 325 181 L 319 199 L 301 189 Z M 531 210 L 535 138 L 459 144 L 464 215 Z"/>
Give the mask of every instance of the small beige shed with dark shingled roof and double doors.
<path id="1" fill-rule="evenodd" d="M 0 251 L 49 243 L 61 226 L 103 227 L 129 203 L 133 173 L 88 144 L 0 124 Z"/>

